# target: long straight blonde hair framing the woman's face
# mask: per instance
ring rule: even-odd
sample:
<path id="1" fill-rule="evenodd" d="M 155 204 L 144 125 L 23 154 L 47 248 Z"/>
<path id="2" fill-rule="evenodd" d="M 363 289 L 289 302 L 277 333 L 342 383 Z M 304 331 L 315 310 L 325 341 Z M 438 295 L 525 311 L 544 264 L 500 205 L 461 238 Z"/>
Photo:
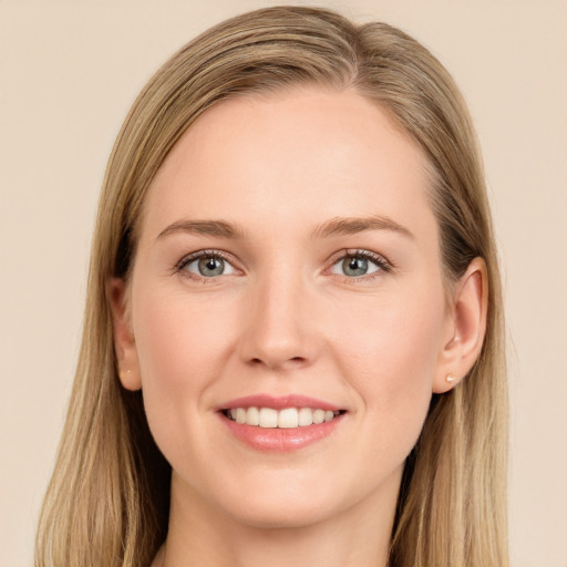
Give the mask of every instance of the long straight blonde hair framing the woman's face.
<path id="1" fill-rule="evenodd" d="M 475 257 L 489 282 L 482 354 L 434 395 L 406 460 L 392 567 L 506 567 L 507 393 L 501 284 L 482 161 L 463 99 L 441 63 L 384 23 L 280 7 L 210 29 L 177 52 L 134 103 L 109 161 L 94 234 L 84 332 L 37 567 L 148 566 L 167 533 L 171 467 L 141 392 L 117 379 L 106 287 L 127 278 L 147 187 L 206 109 L 295 85 L 355 89 L 388 109 L 425 153 L 447 279 Z"/>

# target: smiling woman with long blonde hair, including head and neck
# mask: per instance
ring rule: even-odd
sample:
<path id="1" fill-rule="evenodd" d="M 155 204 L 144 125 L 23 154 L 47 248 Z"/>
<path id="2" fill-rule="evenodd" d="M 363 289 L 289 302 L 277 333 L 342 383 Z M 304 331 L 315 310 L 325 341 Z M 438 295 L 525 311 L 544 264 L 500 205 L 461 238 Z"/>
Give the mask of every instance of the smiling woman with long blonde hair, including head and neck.
<path id="1" fill-rule="evenodd" d="M 37 565 L 505 566 L 494 237 L 464 102 L 381 23 L 272 8 L 112 153 Z"/>

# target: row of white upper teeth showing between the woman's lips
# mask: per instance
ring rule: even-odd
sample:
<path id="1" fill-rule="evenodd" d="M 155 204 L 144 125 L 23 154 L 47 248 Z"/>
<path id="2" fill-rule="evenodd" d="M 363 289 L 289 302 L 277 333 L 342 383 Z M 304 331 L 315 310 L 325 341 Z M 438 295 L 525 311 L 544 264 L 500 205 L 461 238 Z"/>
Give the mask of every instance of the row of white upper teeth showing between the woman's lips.
<path id="1" fill-rule="evenodd" d="M 259 425 L 266 429 L 292 429 L 306 427 L 313 423 L 331 421 L 340 414 L 330 410 L 312 410 L 311 408 L 286 408 L 274 410 L 272 408 L 231 408 L 225 412 L 228 417 L 237 423 Z"/>

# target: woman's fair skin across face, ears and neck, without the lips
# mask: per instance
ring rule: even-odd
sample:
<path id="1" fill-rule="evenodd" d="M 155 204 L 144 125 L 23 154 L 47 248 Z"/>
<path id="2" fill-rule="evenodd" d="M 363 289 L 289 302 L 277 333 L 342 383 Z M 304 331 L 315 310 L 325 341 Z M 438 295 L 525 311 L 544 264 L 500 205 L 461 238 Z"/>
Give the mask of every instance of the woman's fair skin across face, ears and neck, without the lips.
<path id="1" fill-rule="evenodd" d="M 386 565 L 404 460 L 485 326 L 482 260 L 447 297 L 426 187 L 421 150 L 353 91 L 223 102 L 173 148 L 146 197 L 132 279 L 110 282 L 123 385 L 143 389 L 173 467 L 154 566 Z M 329 229 L 369 217 L 381 225 Z M 179 228 L 195 220 L 243 234 Z M 221 250 L 225 272 L 179 264 L 199 250 Z M 358 250 L 380 261 L 354 277 L 342 259 Z M 347 413 L 312 445 L 259 452 L 217 411 L 259 393 Z"/>

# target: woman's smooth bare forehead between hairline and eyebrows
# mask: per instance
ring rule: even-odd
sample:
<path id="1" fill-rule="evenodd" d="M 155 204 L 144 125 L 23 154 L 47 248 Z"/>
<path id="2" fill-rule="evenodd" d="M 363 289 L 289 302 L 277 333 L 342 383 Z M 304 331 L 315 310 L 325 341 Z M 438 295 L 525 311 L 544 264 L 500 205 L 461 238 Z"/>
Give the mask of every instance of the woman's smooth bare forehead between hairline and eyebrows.
<path id="1" fill-rule="evenodd" d="M 306 230 L 370 214 L 420 225 L 432 219 L 426 178 L 421 150 L 354 91 L 243 96 L 206 111 L 173 147 L 142 234 L 181 216 Z"/>

